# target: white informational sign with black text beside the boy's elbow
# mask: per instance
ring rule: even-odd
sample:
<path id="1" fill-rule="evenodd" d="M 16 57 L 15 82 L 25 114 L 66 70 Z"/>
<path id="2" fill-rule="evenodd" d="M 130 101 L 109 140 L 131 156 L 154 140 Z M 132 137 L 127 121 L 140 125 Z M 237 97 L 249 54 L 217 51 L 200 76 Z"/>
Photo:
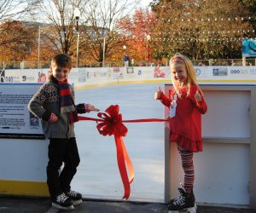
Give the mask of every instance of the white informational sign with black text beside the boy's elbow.
<path id="1" fill-rule="evenodd" d="M 0 83 L 0 137 L 44 139 L 40 119 L 27 109 L 40 83 Z"/>

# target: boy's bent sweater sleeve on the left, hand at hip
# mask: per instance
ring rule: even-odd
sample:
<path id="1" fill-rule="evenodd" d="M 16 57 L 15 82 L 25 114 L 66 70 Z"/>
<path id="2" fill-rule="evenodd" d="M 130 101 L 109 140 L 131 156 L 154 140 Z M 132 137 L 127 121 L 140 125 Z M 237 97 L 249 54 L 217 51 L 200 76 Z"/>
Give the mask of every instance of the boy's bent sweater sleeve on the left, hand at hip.
<path id="1" fill-rule="evenodd" d="M 32 112 L 35 116 L 45 121 L 49 121 L 51 112 L 46 111 L 43 107 L 44 102 L 46 101 L 46 93 L 44 92 L 44 85 L 38 89 L 38 92 L 32 96 L 32 99 L 29 101 L 27 109 Z"/>

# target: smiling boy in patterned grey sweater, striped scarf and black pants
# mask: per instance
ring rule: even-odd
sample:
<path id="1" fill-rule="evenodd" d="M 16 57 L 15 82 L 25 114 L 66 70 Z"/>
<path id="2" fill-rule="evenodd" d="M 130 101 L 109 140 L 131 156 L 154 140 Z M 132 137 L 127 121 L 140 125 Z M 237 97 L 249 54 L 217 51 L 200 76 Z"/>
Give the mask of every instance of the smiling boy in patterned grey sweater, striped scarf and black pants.
<path id="1" fill-rule="evenodd" d="M 68 55 L 55 55 L 49 80 L 28 104 L 29 111 L 41 119 L 44 135 L 49 138 L 47 184 L 52 206 L 64 210 L 82 203 L 82 195 L 70 188 L 80 162 L 73 123 L 78 121 L 78 113 L 99 111 L 90 104 L 74 105 L 74 91 L 67 83 L 71 68 Z M 65 165 L 59 174 L 62 162 Z"/>

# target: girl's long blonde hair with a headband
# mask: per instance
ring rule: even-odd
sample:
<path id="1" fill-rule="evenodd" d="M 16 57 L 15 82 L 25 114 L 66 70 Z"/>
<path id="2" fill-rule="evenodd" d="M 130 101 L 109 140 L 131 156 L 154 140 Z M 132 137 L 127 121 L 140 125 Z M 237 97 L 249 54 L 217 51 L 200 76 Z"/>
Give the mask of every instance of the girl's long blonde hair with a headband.
<path id="1" fill-rule="evenodd" d="M 195 72 L 195 68 L 191 62 L 191 60 L 189 60 L 189 58 L 185 55 L 182 55 L 180 53 L 177 53 L 175 55 L 172 56 L 171 60 L 170 60 L 170 68 L 172 69 L 173 64 L 181 64 L 184 63 L 187 69 L 187 74 L 188 74 L 188 94 L 190 93 L 190 87 L 192 84 L 196 84 L 197 85 L 197 80 L 196 80 L 196 72 Z M 172 77 L 172 74 L 171 74 Z M 177 84 L 174 82 L 173 77 L 172 77 L 172 84 L 174 89 L 177 91 Z M 177 93 L 178 94 L 178 93 Z"/>

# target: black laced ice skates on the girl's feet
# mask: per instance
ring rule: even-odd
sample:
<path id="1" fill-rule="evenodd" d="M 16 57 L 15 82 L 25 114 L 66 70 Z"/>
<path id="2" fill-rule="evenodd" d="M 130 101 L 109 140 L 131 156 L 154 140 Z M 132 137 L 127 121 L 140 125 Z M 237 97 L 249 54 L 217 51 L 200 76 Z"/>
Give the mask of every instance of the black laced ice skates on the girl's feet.
<path id="1" fill-rule="evenodd" d="M 172 199 L 168 204 L 169 213 L 178 212 L 179 210 L 187 210 L 189 213 L 196 212 L 195 196 L 193 191 L 187 193 L 183 187 L 178 188 L 179 195 L 177 199 Z"/>

